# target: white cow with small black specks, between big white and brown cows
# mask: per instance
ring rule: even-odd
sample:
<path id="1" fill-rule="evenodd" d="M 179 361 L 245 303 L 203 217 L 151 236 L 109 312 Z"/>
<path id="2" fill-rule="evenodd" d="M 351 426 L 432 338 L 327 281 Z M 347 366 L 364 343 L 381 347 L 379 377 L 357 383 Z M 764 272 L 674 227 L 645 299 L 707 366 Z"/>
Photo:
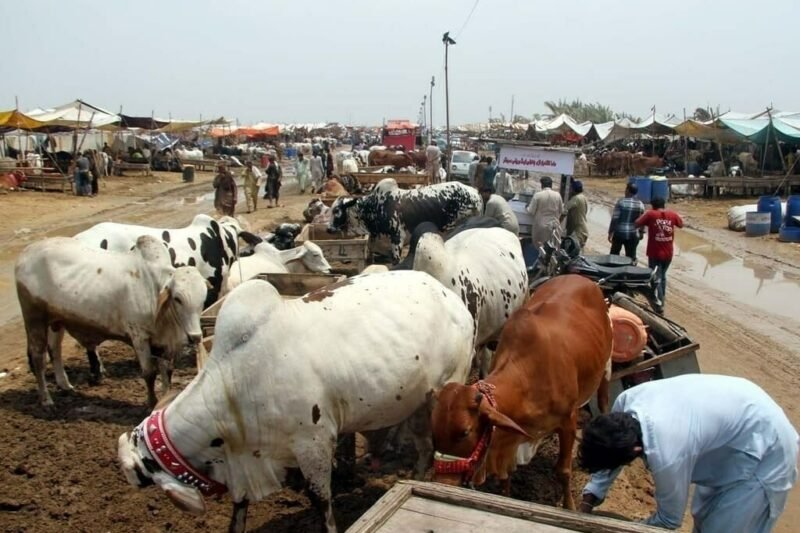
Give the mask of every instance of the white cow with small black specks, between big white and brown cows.
<path id="1" fill-rule="evenodd" d="M 528 295 L 528 273 L 519 239 L 503 228 L 477 228 L 442 240 L 426 233 L 417 243 L 414 270 L 427 272 L 455 292 L 475 318 L 481 375 L 488 374 L 485 347 Z"/>

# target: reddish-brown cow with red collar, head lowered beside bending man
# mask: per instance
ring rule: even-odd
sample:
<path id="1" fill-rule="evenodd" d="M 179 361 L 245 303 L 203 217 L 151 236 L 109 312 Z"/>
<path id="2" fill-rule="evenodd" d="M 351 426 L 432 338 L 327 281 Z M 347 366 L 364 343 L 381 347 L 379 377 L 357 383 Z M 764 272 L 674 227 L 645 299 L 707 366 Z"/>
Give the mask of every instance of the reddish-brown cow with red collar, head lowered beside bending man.
<path id="1" fill-rule="evenodd" d="M 608 410 L 611 340 L 608 307 L 594 282 L 565 275 L 541 285 L 506 322 L 489 376 L 471 386 L 448 383 L 435 395 L 434 480 L 480 485 L 494 475 L 508 494 L 517 448 L 532 445 L 519 450 L 532 456 L 555 431 L 564 507 L 575 509 L 578 409 L 597 392 L 600 410 Z"/>

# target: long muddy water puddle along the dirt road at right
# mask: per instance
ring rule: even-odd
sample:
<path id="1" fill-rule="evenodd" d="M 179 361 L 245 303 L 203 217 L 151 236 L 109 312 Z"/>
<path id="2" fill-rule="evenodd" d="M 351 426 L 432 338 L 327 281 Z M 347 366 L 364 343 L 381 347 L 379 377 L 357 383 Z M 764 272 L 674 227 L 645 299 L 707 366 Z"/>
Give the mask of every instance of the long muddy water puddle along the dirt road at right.
<path id="1" fill-rule="evenodd" d="M 595 232 L 605 235 L 610 221 L 610 208 L 590 207 L 589 224 Z M 590 233 L 593 232 L 590 230 Z M 644 255 L 646 243 L 645 237 L 639 245 L 641 255 Z M 757 264 L 749 258 L 736 258 L 722 247 L 689 231 L 678 230 L 676 233 L 675 257 L 670 270 L 680 270 L 735 301 L 783 317 L 795 320 L 798 317 L 797 304 L 791 302 L 800 301 L 800 275 Z"/>

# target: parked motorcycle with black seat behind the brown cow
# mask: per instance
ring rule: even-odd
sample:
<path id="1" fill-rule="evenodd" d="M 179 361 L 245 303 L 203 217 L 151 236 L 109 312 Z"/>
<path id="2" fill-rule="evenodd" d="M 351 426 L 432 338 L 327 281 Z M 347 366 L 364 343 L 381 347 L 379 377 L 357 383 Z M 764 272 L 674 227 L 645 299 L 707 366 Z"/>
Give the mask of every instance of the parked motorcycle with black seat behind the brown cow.
<path id="1" fill-rule="evenodd" d="M 631 258 L 622 255 L 582 255 L 578 241 L 572 237 L 561 239 L 558 231 L 538 249 L 530 240 L 523 241 L 522 253 L 531 292 L 554 276 L 578 274 L 597 283 L 607 298 L 616 292 L 631 297 L 641 294 L 656 313 L 663 310 L 658 298 L 657 268 L 636 266 Z"/>

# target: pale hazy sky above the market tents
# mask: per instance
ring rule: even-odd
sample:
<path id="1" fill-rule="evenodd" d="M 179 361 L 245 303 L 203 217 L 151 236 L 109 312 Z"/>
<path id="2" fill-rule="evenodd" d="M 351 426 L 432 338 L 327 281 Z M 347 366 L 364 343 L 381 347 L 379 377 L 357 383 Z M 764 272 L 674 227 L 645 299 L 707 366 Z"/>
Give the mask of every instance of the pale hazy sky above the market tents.
<path id="1" fill-rule="evenodd" d="M 132 115 L 242 123 L 443 124 L 545 100 L 617 112 L 800 110 L 799 0 L 0 0 L 0 109 L 82 98 Z M 466 25 L 465 25 L 466 22 Z M 462 29 L 463 28 L 463 29 Z"/>

